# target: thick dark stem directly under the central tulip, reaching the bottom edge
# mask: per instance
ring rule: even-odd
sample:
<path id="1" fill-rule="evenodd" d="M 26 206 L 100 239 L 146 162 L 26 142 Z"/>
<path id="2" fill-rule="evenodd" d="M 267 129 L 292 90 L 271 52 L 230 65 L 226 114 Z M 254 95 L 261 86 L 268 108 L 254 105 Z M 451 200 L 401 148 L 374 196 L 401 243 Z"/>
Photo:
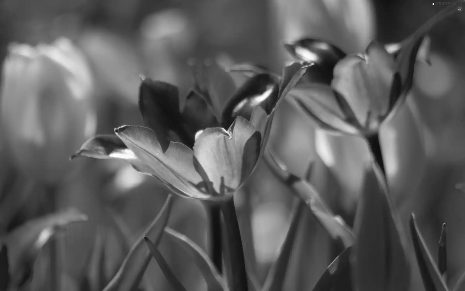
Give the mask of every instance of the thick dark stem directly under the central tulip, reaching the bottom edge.
<path id="1" fill-rule="evenodd" d="M 240 237 L 239 222 L 237 220 L 234 199 L 227 200 L 221 205 L 226 226 L 226 243 L 231 262 L 232 277 L 230 278 L 231 291 L 247 291 L 246 263 L 242 239 Z"/>

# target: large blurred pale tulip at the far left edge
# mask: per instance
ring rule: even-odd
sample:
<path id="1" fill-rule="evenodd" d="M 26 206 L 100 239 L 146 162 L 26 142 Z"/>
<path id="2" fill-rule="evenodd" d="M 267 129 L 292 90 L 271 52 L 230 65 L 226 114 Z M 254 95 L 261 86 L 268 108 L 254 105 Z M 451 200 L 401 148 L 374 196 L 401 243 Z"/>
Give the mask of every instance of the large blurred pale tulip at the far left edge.
<path id="1" fill-rule="evenodd" d="M 68 157 L 95 134 L 93 80 L 84 56 L 67 39 L 11 44 L 3 64 L 1 121 L 17 166 L 56 183 Z"/>

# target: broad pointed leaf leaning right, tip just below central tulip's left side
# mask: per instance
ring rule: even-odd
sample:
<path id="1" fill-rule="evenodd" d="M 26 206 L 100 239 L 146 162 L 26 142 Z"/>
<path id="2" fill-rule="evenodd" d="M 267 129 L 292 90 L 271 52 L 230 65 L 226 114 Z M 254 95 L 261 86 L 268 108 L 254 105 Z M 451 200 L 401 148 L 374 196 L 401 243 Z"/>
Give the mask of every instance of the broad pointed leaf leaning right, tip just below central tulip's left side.
<path id="1" fill-rule="evenodd" d="M 166 198 L 160 213 L 153 220 L 150 226 L 144 231 L 133 248 L 127 254 L 118 273 L 113 277 L 104 291 L 135 291 L 139 287 L 140 281 L 144 276 L 152 256 L 147 250 L 144 237 L 150 238 L 155 245 L 159 244 L 163 230 L 170 216 L 173 205 L 173 197 L 170 195 Z"/>

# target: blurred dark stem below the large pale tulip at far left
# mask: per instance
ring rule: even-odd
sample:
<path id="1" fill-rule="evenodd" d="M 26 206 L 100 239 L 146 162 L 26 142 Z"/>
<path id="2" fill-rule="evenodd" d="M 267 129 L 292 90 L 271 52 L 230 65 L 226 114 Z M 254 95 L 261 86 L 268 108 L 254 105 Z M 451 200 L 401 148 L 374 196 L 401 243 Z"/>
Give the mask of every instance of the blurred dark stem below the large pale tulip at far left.
<path id="1" fill-rule="evenodd" d="M 57 187 L 47 186 L 46 194 L 48 196 L 48 212 L 50 214 L 57 211 L 58 208 L 58 197 Z M 60 291 L 60 274 L 59 274 L 59 258 L 58 258 L 58 246 L 55 237 L 52 237 L 48 242 L 49 246 L 49 264 L 50 264 L 50 291 Z"/>

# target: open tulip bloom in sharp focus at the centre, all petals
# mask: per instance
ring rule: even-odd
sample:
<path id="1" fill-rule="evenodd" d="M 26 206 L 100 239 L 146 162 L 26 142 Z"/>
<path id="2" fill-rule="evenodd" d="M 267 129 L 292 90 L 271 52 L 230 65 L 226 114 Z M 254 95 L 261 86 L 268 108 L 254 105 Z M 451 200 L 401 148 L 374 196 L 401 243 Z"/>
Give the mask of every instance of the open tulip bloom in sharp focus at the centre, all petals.
<path id="1" fill-rule="evenodd" d="M 274 109 L 306 68 L 308 64 L 295 62 L 280 78 L 254 76 L 234 92 L 222 113 L 214 112 L 208 92 L 198 90 L 187 95 L 179 110 L 177 87 L 145 79 L 139 108 L 147 127 L 121 126 L 116 135 L 97 135 L 72 158 L 123 159 L 178 195 L 230 199 L 263 153 Z"/>

